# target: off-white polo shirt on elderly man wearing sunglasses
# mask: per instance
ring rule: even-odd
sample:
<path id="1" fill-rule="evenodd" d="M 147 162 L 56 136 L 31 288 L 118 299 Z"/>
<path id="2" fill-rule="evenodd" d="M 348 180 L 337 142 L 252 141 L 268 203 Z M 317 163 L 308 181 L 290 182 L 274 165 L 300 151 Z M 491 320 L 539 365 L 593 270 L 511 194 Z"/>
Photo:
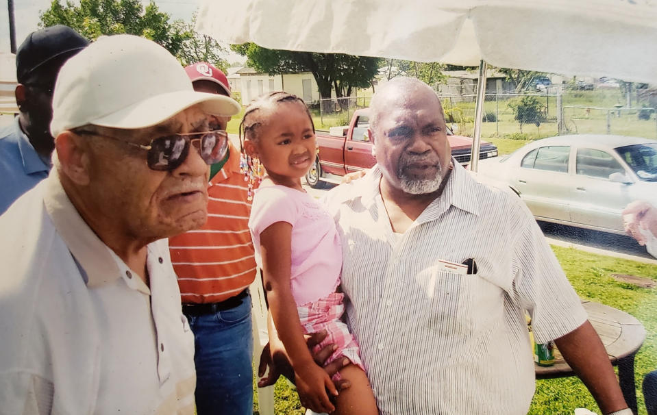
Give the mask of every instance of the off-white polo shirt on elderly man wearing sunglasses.
<path id="1" fill-rule="evenodd" d="M 166 239 L 150 288 L 53 169 L 0 216 L 0 413 L 194 414 L 194 338 Z"/>

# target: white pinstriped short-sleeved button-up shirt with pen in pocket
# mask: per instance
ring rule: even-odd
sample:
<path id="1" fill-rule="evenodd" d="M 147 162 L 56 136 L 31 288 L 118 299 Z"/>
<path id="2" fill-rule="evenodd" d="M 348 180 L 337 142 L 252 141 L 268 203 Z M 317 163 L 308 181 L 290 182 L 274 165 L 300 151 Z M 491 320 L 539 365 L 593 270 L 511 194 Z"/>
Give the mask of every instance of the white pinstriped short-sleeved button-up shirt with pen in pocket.
<path id="1" fill-rule="evenodd" d="M 454 165 L 442 196 L 401 237 L 377 166 L 327 194 L 347 322 L 381 414 L 525 414 L 534 394 L 525 310 L 539 343 L 586 320 L 521 199 Z M 469 258 L 475 275 L 438 265 Z"/>

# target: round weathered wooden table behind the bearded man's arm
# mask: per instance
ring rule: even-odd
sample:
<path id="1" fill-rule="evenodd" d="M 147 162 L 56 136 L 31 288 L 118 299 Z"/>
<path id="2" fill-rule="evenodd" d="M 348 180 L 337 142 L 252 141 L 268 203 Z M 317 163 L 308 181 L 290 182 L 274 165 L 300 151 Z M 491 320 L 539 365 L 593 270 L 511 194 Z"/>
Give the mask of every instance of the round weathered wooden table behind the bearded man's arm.
<path id="1" fill-rule="evenodd" d="M 604 344 L 611 364 L 618 366 L 623 397 L 632 412 L 636 414 L 634 355 L 645 340 L 645 329 L 639 320 L 614 307 L 593 301 L 582 301 L 582 305 L 588 313 L 588 320 L 591 321 L 591 325 Z M 554 379 L 575 375 L 558 350 L 555 349 L 555 351 L 553 366 L 535 364 L 536 379 Z"/>

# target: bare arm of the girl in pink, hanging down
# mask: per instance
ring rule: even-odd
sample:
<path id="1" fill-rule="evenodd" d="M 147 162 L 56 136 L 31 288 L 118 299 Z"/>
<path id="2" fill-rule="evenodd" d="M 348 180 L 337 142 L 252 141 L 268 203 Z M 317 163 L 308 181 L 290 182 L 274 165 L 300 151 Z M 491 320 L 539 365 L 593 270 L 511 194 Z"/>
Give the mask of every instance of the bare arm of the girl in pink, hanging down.
<path id="1" fill-rule="evenodd" d="M 264 229 L 260 233 L 260 251 L 269 309 L 295 370 L 301 403 L 314 412 L 333 412 L 335 407 L 328 399 L 326 388 L 334 396 L 338 392 L 323 368 L 312 360 L 292 296 L 292 225 L 276 222 Z"/>

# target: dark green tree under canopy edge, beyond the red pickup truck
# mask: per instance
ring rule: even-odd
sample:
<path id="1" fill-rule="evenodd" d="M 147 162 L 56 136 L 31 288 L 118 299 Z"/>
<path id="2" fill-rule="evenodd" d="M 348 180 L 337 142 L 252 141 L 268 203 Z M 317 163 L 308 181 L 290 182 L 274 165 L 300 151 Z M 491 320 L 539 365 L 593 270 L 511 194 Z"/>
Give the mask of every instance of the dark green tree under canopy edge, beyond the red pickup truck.
<path id="1" fill-rule="evenodd" d="M 247 65 L 269 75 L 309 71 L 323 99 L 331 97 L 332 89 L 336 97 L 345 97 L 351 95 L 353 88 L 367 88 L 379 68 L 379 58 L 343 53 L 266 49 L 255 43 L 232 45 L 231 49 L 246 56 Z"/>

